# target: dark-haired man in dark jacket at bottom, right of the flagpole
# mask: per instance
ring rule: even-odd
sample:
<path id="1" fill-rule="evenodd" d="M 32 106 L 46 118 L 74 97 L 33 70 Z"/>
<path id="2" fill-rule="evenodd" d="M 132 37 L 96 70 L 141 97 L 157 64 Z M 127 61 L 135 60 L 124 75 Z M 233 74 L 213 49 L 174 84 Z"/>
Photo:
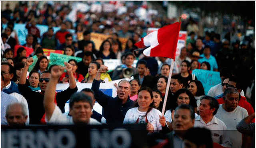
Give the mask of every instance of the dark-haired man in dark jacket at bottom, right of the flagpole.
<path id="1" fill-rule="evenodd" d="M 168 133 L 170 148 L 182 148 L 183 136 L 186 130 L 194 127 L 195 113 L 190 105 L 182 104 L 176 107 L 173 116 L 173 131 Z"/>

